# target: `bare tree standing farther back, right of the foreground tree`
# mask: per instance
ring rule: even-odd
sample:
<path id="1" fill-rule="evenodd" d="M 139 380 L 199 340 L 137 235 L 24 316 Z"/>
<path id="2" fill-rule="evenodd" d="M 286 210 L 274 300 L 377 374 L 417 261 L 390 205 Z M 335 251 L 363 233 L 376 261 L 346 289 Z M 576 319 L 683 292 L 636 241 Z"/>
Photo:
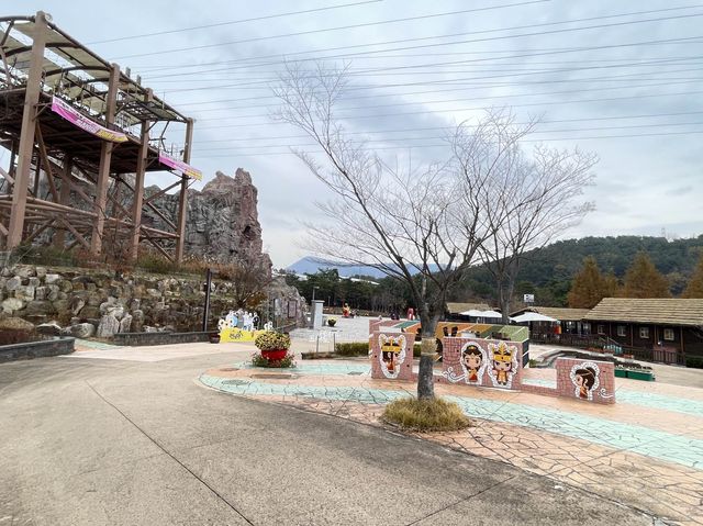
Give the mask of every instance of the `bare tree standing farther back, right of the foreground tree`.
<path id="1" fill-rule="evenodd" d="M 505 324 L 525 253 L 553 242 L 593 210 L 593 203 L 580 198 L 584 188 L 593 184 L 591 170 L 596 156 L 578 148 L 569 152 L 542 145 L 535 146 L 532 156 L 527 156 L 518 142 L 535 123 L 517 127 L 513 115 L 504 111 L 489 112 L 482 123 L 499 135 L 486 145 L 487 149 L 500 147 L 504 138 L 511 145 L 501 165 L 495 167 L 484 211 L 490 235 L 479 249 L 482 262 L 494 279 Z M 459 126 L 453 141 L 455 158 L 467 178 L 476 170 L 477 153 L 483 149 L 477 148 L 476 142 L 477 133 L 466 130 L 465 125 Z"/>

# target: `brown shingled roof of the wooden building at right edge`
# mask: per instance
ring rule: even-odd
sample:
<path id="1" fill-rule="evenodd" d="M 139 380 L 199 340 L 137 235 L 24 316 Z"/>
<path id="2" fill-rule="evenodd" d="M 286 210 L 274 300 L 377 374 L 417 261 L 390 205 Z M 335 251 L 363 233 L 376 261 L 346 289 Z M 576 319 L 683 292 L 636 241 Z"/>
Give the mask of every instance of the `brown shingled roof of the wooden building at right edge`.
<path id="1" fill-rule="evenodd" d="M 703 299 L 604 298 L 585 320 L 703 326 Z"/>

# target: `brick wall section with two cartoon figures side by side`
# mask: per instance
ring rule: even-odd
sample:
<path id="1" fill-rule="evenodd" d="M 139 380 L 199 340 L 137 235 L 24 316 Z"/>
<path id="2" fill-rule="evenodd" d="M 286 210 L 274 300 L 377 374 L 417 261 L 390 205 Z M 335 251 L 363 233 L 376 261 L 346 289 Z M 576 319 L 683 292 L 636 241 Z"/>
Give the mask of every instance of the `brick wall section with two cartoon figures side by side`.
<path id="1" fill-rule="evenodd" d="M 444 380 L 448 383 L 518 390 L 523 347 L 518 342 L 444 338 Z"/>

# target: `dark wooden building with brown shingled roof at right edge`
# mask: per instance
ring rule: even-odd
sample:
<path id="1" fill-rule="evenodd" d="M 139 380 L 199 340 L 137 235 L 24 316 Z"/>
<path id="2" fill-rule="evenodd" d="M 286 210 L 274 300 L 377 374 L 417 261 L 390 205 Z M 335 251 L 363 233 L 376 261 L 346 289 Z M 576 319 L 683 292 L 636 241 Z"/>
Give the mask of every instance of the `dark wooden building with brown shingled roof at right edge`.
<path id="1" fill-rule="evenodd" d="M 703 356 L 703 299 L 604 298 L 583 320 L 626 347 Z"/>

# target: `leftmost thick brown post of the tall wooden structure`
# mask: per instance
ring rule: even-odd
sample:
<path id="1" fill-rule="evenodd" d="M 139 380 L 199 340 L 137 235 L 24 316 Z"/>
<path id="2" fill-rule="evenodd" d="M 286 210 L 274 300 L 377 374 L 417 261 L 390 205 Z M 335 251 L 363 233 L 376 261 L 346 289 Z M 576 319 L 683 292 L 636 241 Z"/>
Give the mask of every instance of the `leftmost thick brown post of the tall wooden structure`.
<path id="1" fill-rule="evenodd" d="M 24 110 L 22 112 L 22 128 L 20 131 L 20 147 L 18 150 L 18 171 L 12 188 L 12 209 L 10 212 L 10 226 L 8 228 L 7 240 L 7 247 L 9 249 L 16 247 L 22 242 L 22 230 L 24 228 L 24 214 L 26 211 L 26 192 L 32 168 L 32 153 L 34 150 L 34 122 L 36 119 L 36 105 L 40 101 L 40 92 L 42 89 L 42 65 L 44 61 L 46 33 L 46 15 L 43 11 L 37 11 L 34 18 L 34 38 L 32 41 L 30 71 L 24 92 Z"/>

